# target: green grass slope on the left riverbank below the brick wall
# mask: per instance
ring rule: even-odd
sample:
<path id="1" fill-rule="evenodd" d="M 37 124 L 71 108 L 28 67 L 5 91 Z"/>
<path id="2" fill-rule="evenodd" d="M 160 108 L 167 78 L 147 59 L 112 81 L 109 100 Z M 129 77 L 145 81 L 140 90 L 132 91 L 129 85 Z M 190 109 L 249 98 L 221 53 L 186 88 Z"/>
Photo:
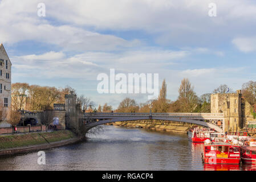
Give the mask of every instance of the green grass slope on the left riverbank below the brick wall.
<path id="1" fill-rule="evenodd" d="M 54 131 L 51 133 L 30 133 L 23 135 L 0 136 L 0 150 L 32 146 L 35 144 L 47 144 L 74 137 L 75 135 L 68 130 Z"/>

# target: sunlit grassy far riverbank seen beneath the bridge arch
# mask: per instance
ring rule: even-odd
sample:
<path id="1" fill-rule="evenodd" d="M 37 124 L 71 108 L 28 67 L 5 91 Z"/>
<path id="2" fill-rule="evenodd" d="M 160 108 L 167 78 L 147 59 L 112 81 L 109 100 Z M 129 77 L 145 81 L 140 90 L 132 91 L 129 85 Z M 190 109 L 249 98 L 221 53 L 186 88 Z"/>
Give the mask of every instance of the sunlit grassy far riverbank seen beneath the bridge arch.
<path id="1" fill-rule="evenodd" d="M 176 133 L 187 133 L 189 125 L 179 125 L 174 123 L 162 124 L 162 123 L 143 123 L 143 122 L 115 122 L 115 126 L 124 127 L 136 127 L 140 126 L 144 129 L 156 130 L 156 131 L 170 131 Z"/>

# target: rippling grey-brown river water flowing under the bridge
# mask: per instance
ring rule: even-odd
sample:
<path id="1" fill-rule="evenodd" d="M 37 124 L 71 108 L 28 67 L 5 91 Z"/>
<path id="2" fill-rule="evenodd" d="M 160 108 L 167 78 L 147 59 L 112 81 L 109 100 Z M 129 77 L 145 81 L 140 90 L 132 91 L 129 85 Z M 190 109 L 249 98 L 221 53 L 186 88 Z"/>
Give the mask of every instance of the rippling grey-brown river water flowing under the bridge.
<path id="1" fill-rule="evenodd" d="M 37 163 L 38 153 L 0 158 L 0 170 L 251 170 L 255 166 L 204 166 L 203 144 L 193 144 L 186 134 L 103 126 L 85 142 L 44 150 L 46 164 Z"/>

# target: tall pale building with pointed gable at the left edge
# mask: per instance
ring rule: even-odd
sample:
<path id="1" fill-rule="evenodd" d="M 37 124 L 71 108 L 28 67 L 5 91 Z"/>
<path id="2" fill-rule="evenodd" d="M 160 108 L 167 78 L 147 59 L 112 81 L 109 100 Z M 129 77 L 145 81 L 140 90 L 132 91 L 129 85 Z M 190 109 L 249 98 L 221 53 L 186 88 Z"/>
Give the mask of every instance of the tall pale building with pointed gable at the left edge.
<path id="1" fill-rule="evenodd" d="M 2 43 L 0 44 L 0 104 L 6 109 L 11 107 L 11 61 Z M 0 123 L 0 127 L 3 127 L 3 124 Z"/>

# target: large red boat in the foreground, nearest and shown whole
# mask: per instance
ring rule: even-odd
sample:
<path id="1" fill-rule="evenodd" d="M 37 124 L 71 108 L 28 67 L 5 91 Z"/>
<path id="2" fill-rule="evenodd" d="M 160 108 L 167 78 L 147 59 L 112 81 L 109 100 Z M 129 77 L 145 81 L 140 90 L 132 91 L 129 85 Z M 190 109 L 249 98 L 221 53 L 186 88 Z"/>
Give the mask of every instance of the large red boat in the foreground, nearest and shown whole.
<path id="1" fill-rule="evenodd" d="M 240 146 L 207 140 L 202 157 L 205 164 L 240 164 Z"/>

